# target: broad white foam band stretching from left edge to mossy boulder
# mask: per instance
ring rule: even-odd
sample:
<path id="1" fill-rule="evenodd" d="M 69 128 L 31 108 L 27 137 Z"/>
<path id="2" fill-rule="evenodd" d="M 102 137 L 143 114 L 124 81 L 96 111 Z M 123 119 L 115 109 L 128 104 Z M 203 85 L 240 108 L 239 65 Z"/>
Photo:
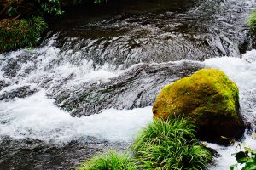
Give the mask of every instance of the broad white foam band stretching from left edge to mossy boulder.
<path id="1" fill-rule="evenodd" d="M 76 118 L 54 105 L 44 90 L 25 99 L 0 103 L 0 136 L 68 141 L 87 136 L 129 142 L 152 120 L 151 107 L 102 111 Z"/>

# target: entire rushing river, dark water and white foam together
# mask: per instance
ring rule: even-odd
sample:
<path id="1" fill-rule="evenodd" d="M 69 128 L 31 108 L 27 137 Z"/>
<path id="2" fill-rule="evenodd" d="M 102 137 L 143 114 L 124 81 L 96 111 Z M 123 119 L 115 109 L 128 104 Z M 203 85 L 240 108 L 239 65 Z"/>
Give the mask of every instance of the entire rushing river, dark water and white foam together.
<path id="1" fill-rule="evenodd" d="M 0 169 L 73 169 L 125 150 L 166 84 L 205 68 L 240 88 L 244 143 L 256 149 L 255 0 L 121 1 L 67 9 L 38 48 L 0 54 Z M 230 147 L 209 169 L 229 169 Z"/>

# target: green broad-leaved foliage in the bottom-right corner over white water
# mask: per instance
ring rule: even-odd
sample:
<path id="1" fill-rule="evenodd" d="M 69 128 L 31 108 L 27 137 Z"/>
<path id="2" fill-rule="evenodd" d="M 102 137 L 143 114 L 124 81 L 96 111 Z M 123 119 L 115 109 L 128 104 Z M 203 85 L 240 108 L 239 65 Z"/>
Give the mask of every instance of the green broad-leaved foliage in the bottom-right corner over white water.
<path id="1" fill-rule="evenodd" d="M 230 166 L 230 170 L 234 170 L 238 164 L 244 165 L 241 170 L 253 170 L 256 169 L 256 152 L 250 148 L 245 147 L 246 151 L 240 151 L 234 156 L 236 157 L 237 163 Z"/>

